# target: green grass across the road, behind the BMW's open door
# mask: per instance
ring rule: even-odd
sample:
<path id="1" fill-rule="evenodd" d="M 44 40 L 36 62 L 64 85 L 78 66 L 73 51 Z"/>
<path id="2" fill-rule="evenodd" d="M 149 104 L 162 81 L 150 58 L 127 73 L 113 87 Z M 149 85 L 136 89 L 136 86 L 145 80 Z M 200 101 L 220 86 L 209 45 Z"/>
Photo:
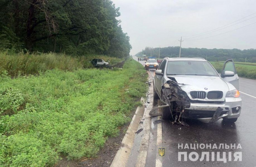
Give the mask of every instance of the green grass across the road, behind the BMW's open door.
<path id="1" fill-rule="evenodd" d="M 218 73 L 221 73 L 224 62 L 210 62 Z M 237 70 L 237 74 L 239 77 L 256 79 L 256 66 L 254 65 L 245 65 L 245 64 L 237 64 L 235 62 L 235 67 Z"/>

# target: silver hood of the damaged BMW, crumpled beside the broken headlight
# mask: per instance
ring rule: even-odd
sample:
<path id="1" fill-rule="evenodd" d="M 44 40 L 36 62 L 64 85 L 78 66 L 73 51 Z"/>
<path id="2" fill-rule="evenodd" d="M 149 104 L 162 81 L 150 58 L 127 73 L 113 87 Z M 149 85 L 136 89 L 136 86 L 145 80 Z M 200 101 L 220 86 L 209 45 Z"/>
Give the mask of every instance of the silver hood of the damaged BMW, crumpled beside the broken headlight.
<path id="1" fill-rule="evenodd" d="M 222 91 L 223 97 L 221 99 L 215 100 L 205 100 L 200 99 L 202 101 L 225 101 L 225 94 L 229 91 L 229 86 L 227 83 L 222 80 L 220 77 L 212 77 L 212 76 L 196 76 L 196 75 L 168 75 L 168 78 L 175 78 L 177 83 L 183 91 L 187 93 L 189 98 L 191 91 L 204 91 L 208 93 L 209 91 Z M 197 100 L 197 99 L 193 99 Z M 198 99 L 199 100 L 199 99 Z"/>

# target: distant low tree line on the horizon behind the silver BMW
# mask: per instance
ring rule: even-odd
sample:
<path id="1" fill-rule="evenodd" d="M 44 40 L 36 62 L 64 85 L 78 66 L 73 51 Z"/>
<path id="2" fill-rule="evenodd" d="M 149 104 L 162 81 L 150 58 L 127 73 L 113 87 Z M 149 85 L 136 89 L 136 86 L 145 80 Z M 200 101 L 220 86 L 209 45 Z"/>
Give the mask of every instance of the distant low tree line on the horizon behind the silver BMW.
<path id="1" fill-rule="evenodd" d="M 165 47 L 160 48 L 160 58 L 164 57 L 178 57 L 180 47 Z M 136 56 L 141 55 L 158 57 L 159 48 L 146 47 Z M 182 48 L 181 57 L 202 57 L 208 61 L 225 61 L 233 59 L 238 62 L 252 62 L 256 63 L 256 49 L 206 49 L 206 48 Z"/>

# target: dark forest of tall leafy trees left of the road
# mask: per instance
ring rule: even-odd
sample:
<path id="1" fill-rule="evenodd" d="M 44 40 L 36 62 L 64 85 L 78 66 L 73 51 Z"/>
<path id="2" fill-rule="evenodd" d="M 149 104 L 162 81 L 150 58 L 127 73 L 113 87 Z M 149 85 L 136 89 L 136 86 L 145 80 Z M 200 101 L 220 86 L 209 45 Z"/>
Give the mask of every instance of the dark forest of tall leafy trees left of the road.
<path id="1" fill-rule="evenodd" d="M 0 0 L 0 51 L 126 57 L 118 16 L 111 0 Z"/>

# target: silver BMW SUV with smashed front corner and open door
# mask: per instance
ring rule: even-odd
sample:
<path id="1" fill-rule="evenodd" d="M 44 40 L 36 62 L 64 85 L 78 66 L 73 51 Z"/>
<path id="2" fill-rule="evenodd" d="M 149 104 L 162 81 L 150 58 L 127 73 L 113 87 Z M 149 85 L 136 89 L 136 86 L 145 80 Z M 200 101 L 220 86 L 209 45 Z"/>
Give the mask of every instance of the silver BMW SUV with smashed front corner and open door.
<path id="1" fill-rule="evenodd" d="M 203 58 L 165 58 L 153 78 L 154 99 L 160 98 L 162 119 L 180 122 L 198 119 L 213 123 L 219 119 L 236 122 L 242 109 L 239 77 L 232 59 L 224 63 L 221 75 Z"/>

